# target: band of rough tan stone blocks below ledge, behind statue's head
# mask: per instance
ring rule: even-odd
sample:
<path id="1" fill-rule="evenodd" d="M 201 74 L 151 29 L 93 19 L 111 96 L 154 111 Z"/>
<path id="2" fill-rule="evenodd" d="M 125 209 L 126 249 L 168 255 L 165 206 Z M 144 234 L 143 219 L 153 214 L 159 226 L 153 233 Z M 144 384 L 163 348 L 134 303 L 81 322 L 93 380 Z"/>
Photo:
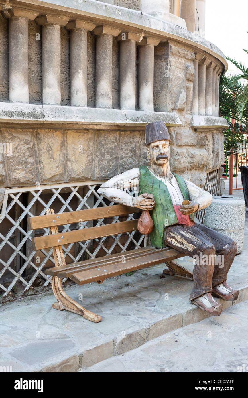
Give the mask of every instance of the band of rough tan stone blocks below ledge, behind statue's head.
<path id="1" fill-rule="evenodd" d="M 187 118 L 185 118 L 187 120 Z M 223 134 L 171 127 L 172 171 L 203 186 L 223 162 Z M 0 154 L 0 186 L 108 179 L 147 163 L 144 131 L 0 129 L 12 156 Z"/>

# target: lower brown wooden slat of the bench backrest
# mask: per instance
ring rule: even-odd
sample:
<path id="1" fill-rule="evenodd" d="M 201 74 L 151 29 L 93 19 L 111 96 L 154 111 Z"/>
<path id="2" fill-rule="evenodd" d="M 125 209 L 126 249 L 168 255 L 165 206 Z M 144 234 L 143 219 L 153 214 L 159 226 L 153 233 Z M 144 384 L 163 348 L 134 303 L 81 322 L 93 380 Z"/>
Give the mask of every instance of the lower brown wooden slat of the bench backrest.
<path id="1" fill-rule="evenodd" d="M 32 238 L 33 250 L 47 249 L 55 246 L 66 245 L 68 243 L 101 238 L 102 236 L 117 235 L 124 232 L 136 231 L 137 226 L 138 220 L 130 220 L 115 222 L 114 224 L 101 225 L 98 227 L 83 228 L 61 234 L 38 236 L 37 238 Z"/>

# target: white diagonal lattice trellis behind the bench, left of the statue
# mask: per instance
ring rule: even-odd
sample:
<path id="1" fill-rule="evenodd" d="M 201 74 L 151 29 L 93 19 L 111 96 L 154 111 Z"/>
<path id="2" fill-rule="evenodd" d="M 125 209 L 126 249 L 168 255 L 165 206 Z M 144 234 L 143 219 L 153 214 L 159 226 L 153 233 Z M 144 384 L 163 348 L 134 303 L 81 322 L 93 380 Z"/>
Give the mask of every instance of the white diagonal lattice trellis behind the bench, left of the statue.
<path id="1" fill-rule="evenodd" d="M 34 281 L 36 278 L 39 276 L 42 279 L 41 285 L 44 287 L 49 284 L 51 281 L 51 277 L 48 275 L 45 275 L 43 272 L 43 268 L 45 267 L 47 261 L 51 261 L 54 263 L 53 256 L 52 256 L 52 249 L 49 251 L 41 250 L 44 258 L 39 264 L 36 264 L 35 261 L 33 260 L 35 258 L 36 252 L 32 250 L 31 248 L 31 237 L 33 234 L 33 231 L 28 231 L 27 228 L 23 228 L 21 224 L 23 223 L 23 220 L 25 220 L 27 217 L 33 217 L 34 215 L 44 215 L 46 212 L 46 209 L 48 208 L 53 208 L 53 205 L 57 201 L 60 204 L 60 208 L 57 211 L 57 213 L 62 213 L 64 211 L 74 211 L 74 210 L 80 210 L 80 209 L 90 209 L 90 208 L 96 208 L 98 206 L 107 206 L 107 205 L 113 205 L 114 203 L 105 203 L 106 199 L 104 199 L 101 195 L 97 193 L 97 188 L 100 183 L 103 181 L 92 181 L 92 183 L 75 183 L 75 184 L 55 184 L 55 185 L 42 185 L 40 187 L 27 187 L 27 188 L 14 188 L 14 189 L 7 189 L 6 194 L 4 197 L 4 203 L 3 203 L 3 208 L 2 208 L 2 215 L 0 217 L 0 224 L 3 223 L 4 221 L 8 220 L 8 222 L 12 225 L 8 233 L 4 236 L 4 234 L 0 233 L 0 264 L 2 265 L 2 268 L 0 269 L 0 289 L 4 292 L 2 295 L 2 298 L 6 297 L 9 293 L 12 293 L 13 288 L 15 287 L 16 283 L 18 282 L 19 285 L 21 284 L 22 286 L 22 292 L 25 293 L 27 292 L 30 287 L 32 287 Z M 65 190 L 67 193 L 67 198 L 64 199 L 62 197 L 62 191 Z M 84 195 L 80 194 L 79 191 L 83 191 Z M 131 195 L 134 195 L 133 191 L 127 190 L 128 193 Z M 24 205 L 24 201 L 20 200 L 20 196 L 23 195 L 23 193 L 28 193 L 28 203 Z M 46 193 L 49 196 L 49 200 L 47 203 L 42 199 L 42 194 Z M 71 203 L 73 199 L 77 199 L 77 206 L 76 208 L 72 209 Z M 90 204 L 88 203 L 90 201 Z M 34 208 L 35 203 L 39 203 L 39 206 L 42 207 L 42 210 L 39 211 L 39 214 L 33 214 L 32 210 Z M 13 207 L 18 207 L 19 210 L 19 217 L 17 220 L 14 220 L 10 212 L 13 209 Z M 133 214 L 129 215 L 126 217 L 126 220 L 132 220 L 134 219 Z M 104 225 L 106 219 L 100 219 L 96 220 L 96 226 L 99 225 Z M 110 220 L 110 219 L 108 219 Z M 111 219 L 111 223 L 119 222 L 119 217 L 113 217 Z M 92 222 L 91 222 L 92 223 Z M 61 232 L 66 232 L 70 231 L 74 227 L 71 225 L 64 225 L 62 227 Z M 0 225 L 1 226 L 1 225 Z M 81 222 L 78 224 L 76 227 L 79 229 L 82 228 L 88 228 L 89 226 L 92 226 L 92 224 L 89 224 L 89 222 Z M 19 233 L 19 241 L 18 244 L 13 244 L 11 240 L 13 240 L 13 236 L 16 234 L 18 231 Z M 44 236 L 49 233 L 48 228 L 44 228 L 41 231 L 41 234 Z M 97 256 L 98 252 L 100 249 L 104 250 L 106 255 L 111 254 L 113 252 L 113 249 L 115 246 L 119 246 L 119 251 L 124 252 L 127 250 L 127 247 L 129 244 L 132 244 L 133 248 L 140 248 L 145 240 L 144 235 L 137 234 L 138 239 L 135 240 L 134 235 L 136 231 L 133 231 L 131 233 L 127 232 L 125 234 L 119 234 L 117 236 L 111 236 L 113 239 L 113 243 L 109 248 L 106 247 L 105 241 L 106 237 L 99 238 L 99 239 L 94 239 L 95 241 L 95 246 L 96 248 L 94 250 L 92 249 L 92 240 L 87 240 L 85 242 L 78 242 L 78 248 L 75 250 L 75 254 L 72 255 L 71 249 L 72 246 L 75 244 L 69 244 L 67 247 L 62 246 L 63 251 L 64 251 L 64 256 L 66 257 L 66 260 L 68 262 L 76 262 L 80 261 L 84 253 L 87 253 L 88 258 L 94 258 Z M 124 243 L 122 240 L 120 240 L 121 235 L 125 235 Z M 7 246 L 10 246 L 12 248 L 12 254 L 10 257 L 4 261 L 1 256 L 1 252 L 3 253 L 4 248 Z M 23 252 L 23 248 L 25 247 L 25 250 Z M 29 251 L 27 250 L 27 247 L 29 247 Z M 27 254 L 28 252 L 28 254 Z M 19 264 L 20 269 L 15 269 L 18 268 L 13 265 L 14 261 L 16 260 L 16 256 L 19 256 L 19 262 L 21 263 L 21 259 L 23 264 Z M 27 270 L 27 267 L 31 269 L 31 271 L 28 273 L 28 276 L 30 279 L 28 280 L 27 275 L 25 275 L 25 270 Z M 8 277 L 6 277 L 6 274 L 8 273 Z M 5 278 L 4 278 L 5 277 Z M 7 283 L 4 283 L 4 280 L 7 281 Z M 7 285 L 7 286 L 6 286 Z"/>

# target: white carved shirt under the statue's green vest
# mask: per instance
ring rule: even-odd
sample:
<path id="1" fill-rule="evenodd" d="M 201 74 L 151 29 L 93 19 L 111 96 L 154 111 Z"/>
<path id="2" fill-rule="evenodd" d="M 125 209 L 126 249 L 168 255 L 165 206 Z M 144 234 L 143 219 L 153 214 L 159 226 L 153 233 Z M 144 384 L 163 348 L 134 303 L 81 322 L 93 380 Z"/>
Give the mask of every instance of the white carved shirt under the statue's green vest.
<path id="1" fill-rule="evenodd" d="M 149 171 L 155 176 L 152 170 L 149 168 Z M 173 205 L 182 205 L 182 201 L 184 197 L 179 188 L 178 182 L 176 178 L 172 175 L 172 179 L 169 181 L 167 178 L 155 176 L 157 179 L 162 181 L 172 199 Z M 135 207 L 133 204 L 133 196 L 124 190 L 127 188 L 129 191 L 134 189 L 135 196 L 138 195 L 139 192 L 139 178 L 140 178 L 140 170 L 139 167 L 133 168 L 131 170 L 127 170 L 122 174 L 118 174 L 117 176 L 109 179 L 100 185 L 98 189 L 98 193 L 103 195 L 105 198 L 109 199 L 111 202 L 122 203 L 126 206 Z M 184 180 L 187 185 L 187 189 L 189 191 L 189 199 L 191 201 L 195 201 L 199 204 L 199 209 L 204 209 L 209 206 L 212 201 L 212 195 L 197 187 L 193 182 Z"/>

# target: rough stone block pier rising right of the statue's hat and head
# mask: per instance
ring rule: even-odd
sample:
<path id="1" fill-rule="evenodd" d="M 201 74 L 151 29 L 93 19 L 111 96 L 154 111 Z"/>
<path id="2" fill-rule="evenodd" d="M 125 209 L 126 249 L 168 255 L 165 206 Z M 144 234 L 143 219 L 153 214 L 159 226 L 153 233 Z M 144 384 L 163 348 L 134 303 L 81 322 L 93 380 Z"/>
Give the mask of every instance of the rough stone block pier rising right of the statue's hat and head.
<path id="1" fill-rule="evenodd" d="M 171 168 L 202 187 L 206 173 L 224 161 L 223 133 L 191 127 L 194 59 L 193 51 L 172 41 L 154 48 L 154 110 L 178 113 L 182 125 L 169 129 Z"/>

